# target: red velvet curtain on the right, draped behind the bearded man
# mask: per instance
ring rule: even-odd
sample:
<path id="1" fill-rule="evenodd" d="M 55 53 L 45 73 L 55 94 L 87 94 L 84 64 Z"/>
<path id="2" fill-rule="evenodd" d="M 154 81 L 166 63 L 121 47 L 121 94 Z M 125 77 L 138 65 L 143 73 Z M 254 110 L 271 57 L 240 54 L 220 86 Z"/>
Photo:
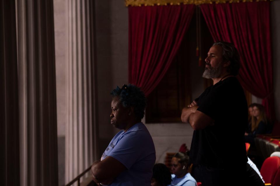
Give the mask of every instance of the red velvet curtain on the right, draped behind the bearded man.
<path id="1" fill-rule="evenodd" d="M 262 98 L 268 118 L 275 119 L 269 2 L 203 4 L 202 14 L 214 41 L 232 42 L 241 57 L 239 81 Z"/>

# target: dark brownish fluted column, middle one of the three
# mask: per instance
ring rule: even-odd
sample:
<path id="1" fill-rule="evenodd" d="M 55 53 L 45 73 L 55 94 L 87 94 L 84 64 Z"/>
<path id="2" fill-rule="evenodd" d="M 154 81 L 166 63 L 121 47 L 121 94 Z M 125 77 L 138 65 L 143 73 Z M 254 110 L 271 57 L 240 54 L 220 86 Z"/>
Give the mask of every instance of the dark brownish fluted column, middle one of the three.
<path id="1" fill-rule="evenodd" d="M 20 185 L 58 185 L 53 1 L 16 4 Z"/>

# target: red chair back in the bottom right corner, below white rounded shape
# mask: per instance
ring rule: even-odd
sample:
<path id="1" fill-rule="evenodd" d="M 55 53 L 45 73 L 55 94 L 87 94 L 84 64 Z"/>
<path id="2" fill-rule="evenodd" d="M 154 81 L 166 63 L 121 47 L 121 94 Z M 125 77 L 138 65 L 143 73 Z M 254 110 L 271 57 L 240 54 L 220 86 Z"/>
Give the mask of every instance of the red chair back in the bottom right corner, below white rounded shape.
<path id="1" fill-rule="evenodd" d="M 273 183 L 275 175 L 280 168 L 280 158 L 273 156 L 268 157 L 262 164 L 262 168 L 260 169 L 260 174 L 262 175 L 265 183 Z"/>

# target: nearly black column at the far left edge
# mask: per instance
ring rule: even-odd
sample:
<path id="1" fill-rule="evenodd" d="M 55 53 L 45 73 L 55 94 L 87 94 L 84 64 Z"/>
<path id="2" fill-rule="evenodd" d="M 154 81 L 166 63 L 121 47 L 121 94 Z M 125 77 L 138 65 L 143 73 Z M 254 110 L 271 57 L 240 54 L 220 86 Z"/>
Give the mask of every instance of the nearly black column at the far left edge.
<path id="1" fill-rule="evenodd" d="M 20 185 L 15 1 L 0 0 L 0 185 Z"/>

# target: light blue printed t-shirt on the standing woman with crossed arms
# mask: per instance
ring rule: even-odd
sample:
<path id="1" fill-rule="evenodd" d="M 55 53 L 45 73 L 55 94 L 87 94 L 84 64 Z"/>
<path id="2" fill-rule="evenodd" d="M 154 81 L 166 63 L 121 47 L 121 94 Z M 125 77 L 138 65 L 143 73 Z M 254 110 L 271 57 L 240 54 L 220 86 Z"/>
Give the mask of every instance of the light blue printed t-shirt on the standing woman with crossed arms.
<path id="1" fill-rule="evenodd" d="M 143 123 L 136 123 L 126 132 L 118 132 L 102 155 L 121 162 L 127 170 L 120 173 L 110 186 L 150 186 L 155 164 L 153 139 Z"/>

